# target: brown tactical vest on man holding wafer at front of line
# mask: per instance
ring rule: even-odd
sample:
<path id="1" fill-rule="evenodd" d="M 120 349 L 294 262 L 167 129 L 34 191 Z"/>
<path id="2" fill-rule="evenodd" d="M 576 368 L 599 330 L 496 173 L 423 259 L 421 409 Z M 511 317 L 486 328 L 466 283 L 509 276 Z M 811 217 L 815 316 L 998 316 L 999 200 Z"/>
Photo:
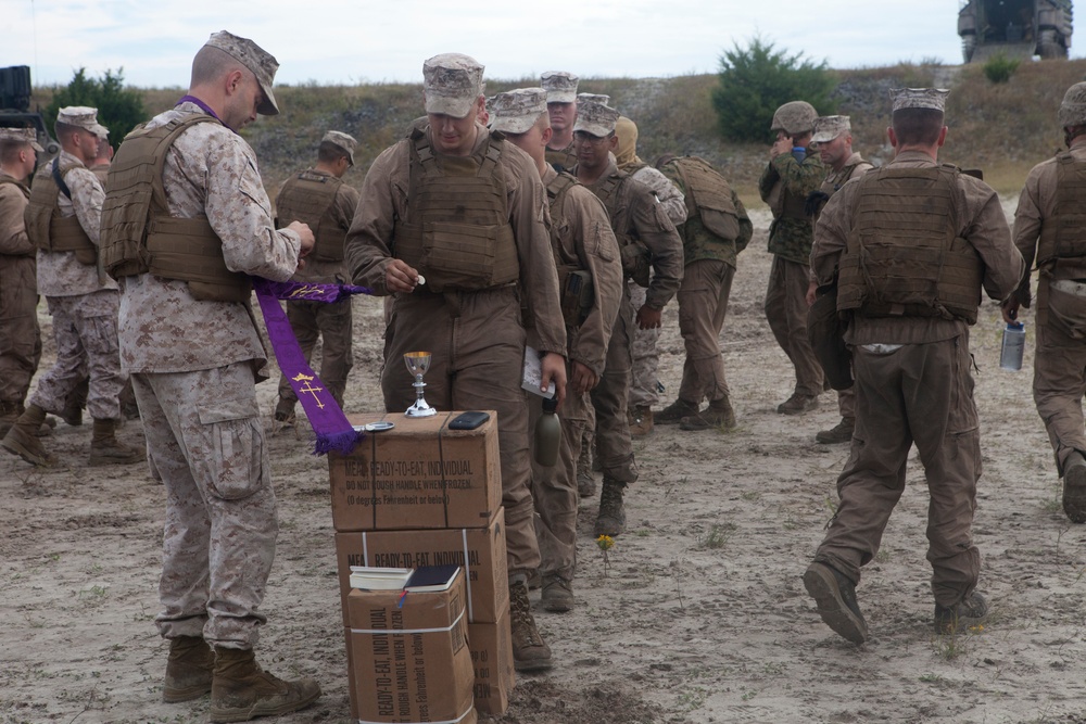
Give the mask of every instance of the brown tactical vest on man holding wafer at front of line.
<path id="1" fill-rule="evenodd" d="M 503 138 L 492 132 L 470 156 L 434 155 L 422 130 L 407 140 L 407 218 L 395 226 L 392 253 L 426 277 L 429 291 L 475 292 L 520 278 L 497 165 Z"/>

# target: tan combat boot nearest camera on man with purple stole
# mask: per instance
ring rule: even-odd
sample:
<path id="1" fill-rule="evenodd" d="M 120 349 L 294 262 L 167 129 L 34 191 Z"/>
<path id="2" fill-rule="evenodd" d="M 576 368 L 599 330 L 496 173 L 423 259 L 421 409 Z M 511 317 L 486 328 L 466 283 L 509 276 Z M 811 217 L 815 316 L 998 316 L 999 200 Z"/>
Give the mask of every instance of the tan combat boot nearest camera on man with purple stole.
<path id="1" fill-rule="evenodd" d="M 278 716 L 304 709 L 319 696 L 320 686 L 312 678 L 285 682 L 261 669 L 252 649 L 215 647 L 215 675 L 211 687 L 213 722 Z"/>

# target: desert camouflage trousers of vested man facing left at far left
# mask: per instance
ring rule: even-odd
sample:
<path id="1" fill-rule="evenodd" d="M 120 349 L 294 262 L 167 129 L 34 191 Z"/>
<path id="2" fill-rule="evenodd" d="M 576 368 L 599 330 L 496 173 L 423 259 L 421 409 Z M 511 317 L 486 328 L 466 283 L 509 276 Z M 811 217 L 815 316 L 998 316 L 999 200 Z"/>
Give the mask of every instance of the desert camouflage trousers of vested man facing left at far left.
<path id="1" fill-rule="evenodd" d="M 56 363 L 38 381 L 30 403 L 59 415 L 85 377 L 90 378 L 87 411 L 96 420 L 121 419 L 121 371 L 117 313 L 121 295 L 103 289 L 78 296 L 47 296 L 53 317 Z"/>

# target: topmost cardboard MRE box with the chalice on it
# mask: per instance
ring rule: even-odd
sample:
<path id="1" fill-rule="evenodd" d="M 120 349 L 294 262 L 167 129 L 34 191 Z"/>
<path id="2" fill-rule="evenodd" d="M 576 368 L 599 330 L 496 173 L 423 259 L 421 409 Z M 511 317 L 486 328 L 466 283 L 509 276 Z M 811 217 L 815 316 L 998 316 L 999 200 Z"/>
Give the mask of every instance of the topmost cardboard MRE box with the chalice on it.
<path id="1" fill-rule="evenodd" d="M 459 412 L 409 418 L 353 415 L 367 432 L 351 455 L 328 455 L 337 531 L 485 528 L 502 505 L 496 412 L 475 430 L 450 430 Z"/>

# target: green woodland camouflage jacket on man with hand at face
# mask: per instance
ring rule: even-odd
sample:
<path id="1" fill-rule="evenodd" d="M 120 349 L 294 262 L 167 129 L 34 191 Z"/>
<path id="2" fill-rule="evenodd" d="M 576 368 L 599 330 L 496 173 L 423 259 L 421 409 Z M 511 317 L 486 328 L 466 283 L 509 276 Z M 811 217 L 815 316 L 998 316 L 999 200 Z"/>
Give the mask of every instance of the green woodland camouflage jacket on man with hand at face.
<path id="1" fill-rule="evenodd" d="M 773 225 L 769 228 L 769 251 L 790 262 L 807 266 L 815 238 L 815 224 L 810 218 L 782 217 L 784 198 L 798 196 L 800 204 L 811 191 L 818 191 L 825 178 L 825 165 L 817 153 L 808 153 L 803 163 L 791 153 L 782 153 L 769 162 L 758 192 L 773 211 Z"/>

